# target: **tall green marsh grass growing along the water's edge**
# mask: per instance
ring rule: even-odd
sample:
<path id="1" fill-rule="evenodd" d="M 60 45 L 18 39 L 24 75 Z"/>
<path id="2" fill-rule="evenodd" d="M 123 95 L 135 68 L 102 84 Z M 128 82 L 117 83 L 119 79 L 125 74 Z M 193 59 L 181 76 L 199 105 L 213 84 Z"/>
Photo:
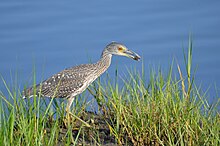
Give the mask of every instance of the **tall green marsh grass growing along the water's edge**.
<path id="1" fill-rule="evenodd" d="M 220 100 L 210 105 L 206 94 L 202 94 L 194 83 L 191 39 L 184 60 L 186 75 L 184 67 L 173 61 L 167 73 L 151 69 L 151 73 L 146 74 L 143 67 L 141 71 L 130 69 L 129 76 L 120 78 L 116 70 L 115 82 L 107 74 L 89 87 L 98 103 L 98 113 L 109 119 L 105 122 L 115 143 L 220 145 Z M 178 74 L 173 73 L 176 66 Z M 117 80 L 123 80 L 123 85 L 118 85 Z M 59 104 L 56 99 L 46 103 L 44 98 L 37 97 L 23 100 L 19 88 L 9 88 L 3 78 L 2 82 L 9 96 L 0 92 L 0 145 L 83 144 L 88 138 L 87 129 L 93 131 L 92 144 L 103 144 L 101 133 L 93 127 L 93 122 L 80 119 L 92 104 L 85 98 L 76 98 L 72 123 L 63 128 L 64 103 Z M 81 125 L 73 136 L 76 120 L 81 121 Z"/>

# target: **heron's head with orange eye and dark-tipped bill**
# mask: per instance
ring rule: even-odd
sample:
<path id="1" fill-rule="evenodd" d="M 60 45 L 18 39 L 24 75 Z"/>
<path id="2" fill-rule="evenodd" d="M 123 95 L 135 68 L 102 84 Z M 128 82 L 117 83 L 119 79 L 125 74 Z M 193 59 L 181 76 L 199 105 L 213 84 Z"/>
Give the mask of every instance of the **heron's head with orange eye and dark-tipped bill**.
<path id="1" fill-rule="evenodd" d="M 110 54 L 126 56 L 137 61 L 141 58 L 137 53 L 128 50 L 128 48 L 125 45 L 117 42 L 112 42 L 108 44 L 105 50 Z"/>

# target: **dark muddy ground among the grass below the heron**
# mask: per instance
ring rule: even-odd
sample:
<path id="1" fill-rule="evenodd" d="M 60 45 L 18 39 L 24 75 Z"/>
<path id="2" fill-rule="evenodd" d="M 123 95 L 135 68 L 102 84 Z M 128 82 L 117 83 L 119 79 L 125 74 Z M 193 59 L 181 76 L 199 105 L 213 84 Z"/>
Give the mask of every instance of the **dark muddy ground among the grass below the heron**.
<path id="1" fill-rule="evenodd" d="M 72 134 L 77 140 L 77 145 L 103 145 L 103 146 L 115 146 L 117 140 L 110 132 L 110 126 L 114 125 L 114 118 L 107 118 L 102 114 L 96 114 L 93 112 L 85 112 L 81 117 L 81 120 L 90 125 L 86 126 L 80 120 L 75 119 L 72 121 Z M 59 132 L 58 145 L 65 144 L 65 138 L 67 137 L 67 124 L 61 122 Z M 50 135 L 50 128 L 46 129 L 46 133 Z M 79 133 L 80 132 L 80 133 Z M 128 144 L 128 143 L 127 143 Z M 126 145 L 127 145 L 126 144 Z M 72 143 L 73 145 L 73 143 Z"/>

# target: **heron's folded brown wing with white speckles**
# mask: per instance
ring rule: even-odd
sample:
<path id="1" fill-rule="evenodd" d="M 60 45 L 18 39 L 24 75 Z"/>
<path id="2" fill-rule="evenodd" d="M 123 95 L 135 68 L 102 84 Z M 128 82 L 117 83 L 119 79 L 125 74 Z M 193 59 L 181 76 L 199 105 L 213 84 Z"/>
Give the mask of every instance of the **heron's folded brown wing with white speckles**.
<path id="1" fill-rule="evenodd" d="M 71 94 L 80 94 L 87 85 L 88 76 L 91 70 L 88 65 L 80 65 L 66 69 L 38 85 L 43 96 L 47 97 L 68 97 Z M 82 90 L 80 90 L 82 89 Z"/>

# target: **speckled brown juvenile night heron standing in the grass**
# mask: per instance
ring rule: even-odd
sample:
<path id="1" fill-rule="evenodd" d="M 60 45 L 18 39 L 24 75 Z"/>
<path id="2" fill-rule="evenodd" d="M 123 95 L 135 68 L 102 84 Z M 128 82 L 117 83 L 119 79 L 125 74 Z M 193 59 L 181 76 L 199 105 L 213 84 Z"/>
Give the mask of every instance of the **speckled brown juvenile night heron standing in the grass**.
<path id="1" fill-rule="evenodd" d="M 69 111 L 74 97 L 82 93 L 108 69 L 112 55 L 126 56 L 134 60 L 140 59 L 138 54 L 128 50 L 125 45 L 112 42 L 105 47 L 98 62 L 65 69 L 35 87 L 24 90 L 24 97 L 33 96 L 34 90 L 36 90 L 37 96 L 67 98 L 66 110 Z"/>

